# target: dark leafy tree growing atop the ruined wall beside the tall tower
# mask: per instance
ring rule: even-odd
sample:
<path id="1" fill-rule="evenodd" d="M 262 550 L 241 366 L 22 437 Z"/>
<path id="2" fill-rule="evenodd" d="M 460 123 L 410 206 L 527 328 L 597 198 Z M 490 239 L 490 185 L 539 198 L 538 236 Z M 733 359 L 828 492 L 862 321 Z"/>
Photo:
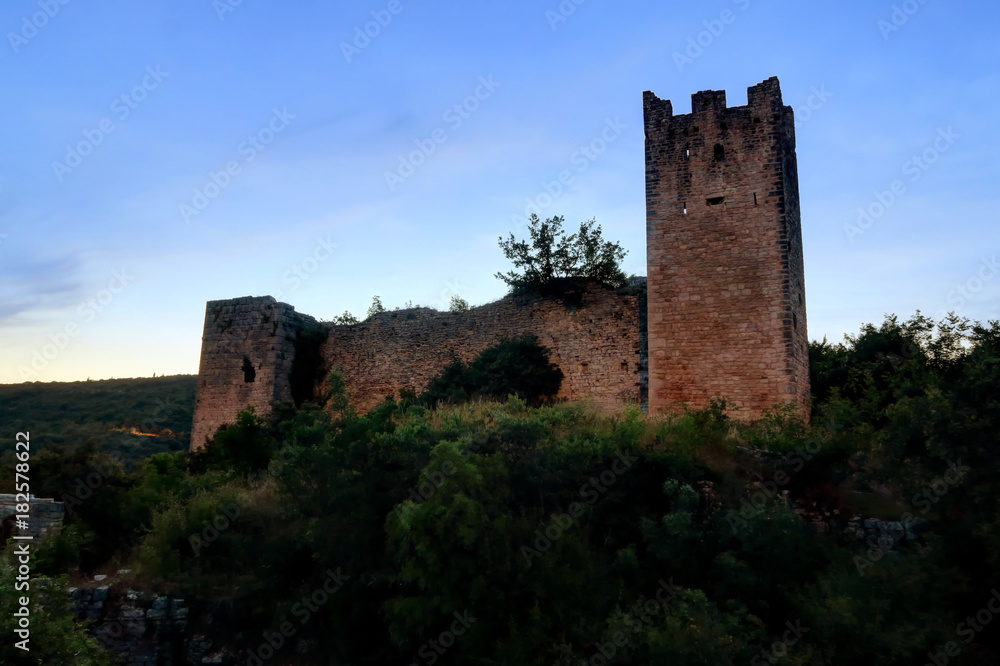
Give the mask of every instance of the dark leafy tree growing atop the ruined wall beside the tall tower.
<path id="1" fill-rule="evenodd" d="M 582 222 L 580 230 L 570 235 L 563 231 L 563 222 L 562 216 L 543 222 L 532 213 L 529 240 L 517 240 L 514 234 L 506 241 L 500 238 L 500 248 L 515 270 L 496 277 L 512 292 L 545 289 L 557 278 L 567 277 L 591 278 L 612 288 L 628 283 L 620 266 L 626 251 L 618 243 L 604 240 L 595 219 Z"/>

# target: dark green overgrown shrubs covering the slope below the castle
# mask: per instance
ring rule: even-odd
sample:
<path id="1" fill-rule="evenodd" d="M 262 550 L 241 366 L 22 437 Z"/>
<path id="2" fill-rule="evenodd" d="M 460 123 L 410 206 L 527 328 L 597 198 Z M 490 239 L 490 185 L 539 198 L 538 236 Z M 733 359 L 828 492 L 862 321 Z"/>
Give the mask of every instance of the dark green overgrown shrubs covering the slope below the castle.
<path id="1" fill-rule="evenodd" d="M 212 638 L 237 650 L 291 622 L 307 652 L 273 663 L 998 663 L 1000 634 L 966 618 L 992 618 L 1000 586 L 1000 323 L 890 317 L 811 356 L 808 425 L 517 397 L 358 415 L 334 382 L 343 409 L 245 412 L 204 454 L 116 469 L 37 571 L 129 562 L 224 599 Z M 81 455 L 67 483 L 102 459 Z M 854 515 L 913 536 L 859 542 Z M 101 522 L 124 534 L 113 552 Z M 331 573 L 343 585 L 301 622 Z"/>

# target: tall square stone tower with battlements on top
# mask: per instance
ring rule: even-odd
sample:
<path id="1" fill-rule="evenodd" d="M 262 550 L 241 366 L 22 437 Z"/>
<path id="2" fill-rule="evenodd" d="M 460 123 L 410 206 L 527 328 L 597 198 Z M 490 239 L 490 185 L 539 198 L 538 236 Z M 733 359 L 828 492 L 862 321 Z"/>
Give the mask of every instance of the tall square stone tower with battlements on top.
<path id="1" fill-rule="evenodd" d="M 794 115 L 776 77 L 747 100 L 699 92 L 675 116 L 643 93 L 650 411 L 724 397 L 744 419 L 808 416 Z"/>

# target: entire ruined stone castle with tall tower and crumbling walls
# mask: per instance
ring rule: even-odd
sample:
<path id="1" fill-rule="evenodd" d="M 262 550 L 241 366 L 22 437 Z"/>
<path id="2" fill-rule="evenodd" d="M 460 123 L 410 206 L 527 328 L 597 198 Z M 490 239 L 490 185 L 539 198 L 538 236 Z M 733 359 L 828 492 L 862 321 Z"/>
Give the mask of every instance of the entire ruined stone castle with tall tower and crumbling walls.
<path id="1" fill-rule="evenodd" d="M 332 368 L 363 412 L 524 335 L 551 350 L 567 400 L 657 411 L 724 397 L 737 418 L 779 403 L 807 416 L 795 127 L 778 79 L 750 87 L 746 106 L 704 91 L 675 116 L 647 91 L 643 111 L 646 294 L 576 282 L 559 295 L 507 296 L 468 312 L 397 310 L 353 325 L 318 322 L 270 296 L 210 301 L 191 448 L 248 405 L 267 414 L 275 402 L 311 398 Z"/>

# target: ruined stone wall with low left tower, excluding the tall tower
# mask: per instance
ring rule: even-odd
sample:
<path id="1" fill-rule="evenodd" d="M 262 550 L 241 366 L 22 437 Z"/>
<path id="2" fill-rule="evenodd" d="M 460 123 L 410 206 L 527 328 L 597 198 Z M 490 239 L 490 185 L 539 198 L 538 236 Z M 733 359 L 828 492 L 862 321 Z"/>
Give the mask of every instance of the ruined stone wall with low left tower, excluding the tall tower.
<path id="1" fill-rule="evenodd" d="M 318 324 L 270 296 L 211 301 L 191 446 L 204 446 L 247 405 L 267 414 L 274 401 L 292 400 L 296 349 L 300 361 L 310 351 L 297 343 L 308 331 L 325 337 L 310 363 L 322 364 L 326 372 L 339 367 L 352 404 L 362 412 L 402 389 L 423 391 L 455 359 L 469 362 L 506 337 L 524 335 L 538 337 L 551 350 L 550 360 L 565 375 L 560 397 L 590 398 L 606 408 L 639 402 L 644 305 L 641 296 L 578 283 L 561 296 L 507 297 L 462 313 L 396 310 L 335 326 Z M 253 372 L 245 370 L 244 359 Z M 325 374 L 317 379 L 322 383 Z"/>

